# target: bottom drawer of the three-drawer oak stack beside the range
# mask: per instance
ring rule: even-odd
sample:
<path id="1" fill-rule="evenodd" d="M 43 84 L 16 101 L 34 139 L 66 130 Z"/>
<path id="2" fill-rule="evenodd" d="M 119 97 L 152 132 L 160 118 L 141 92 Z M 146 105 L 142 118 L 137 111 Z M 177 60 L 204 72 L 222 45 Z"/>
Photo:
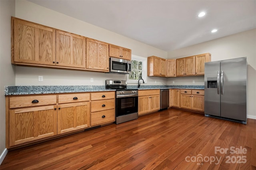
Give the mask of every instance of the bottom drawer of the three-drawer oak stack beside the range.
<path id="1" fill-rule="evenodd" d="M 115 121 L 115 109 L 91 113 L 91 125 L 101 125 Z"/>

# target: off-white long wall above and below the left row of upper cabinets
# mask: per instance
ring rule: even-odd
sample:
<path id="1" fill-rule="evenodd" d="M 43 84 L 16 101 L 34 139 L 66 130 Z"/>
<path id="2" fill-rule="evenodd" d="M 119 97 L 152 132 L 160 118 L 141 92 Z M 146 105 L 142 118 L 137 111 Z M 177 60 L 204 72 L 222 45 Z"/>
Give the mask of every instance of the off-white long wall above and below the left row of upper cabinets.
<path id="1" fill-rule="evenodd" d="M 15 17 L 17 18 L 120 45 L 132 49 L 133 55 L 141 57 L 156 55 L 167 58 L 167 51 L 137 42 L 114 32 L 33 4 L 32 2 L 16 0 L 15 7 Z M 106 79 L 126 79 L 125 75 L 36 67 L 16 67 L 15 74 L 16 85 L 105 85 Z M 38 75 L 43 75 L 43 82 L 38 82 Z M 90 82 L 90 78 L 94 78 L 93 83 Z M 157 83 L 155 83 L 155 80 Z M 166 85 L 166 82 L 166 78 L 148 77 L 148 83 L 144 85 Z"/>

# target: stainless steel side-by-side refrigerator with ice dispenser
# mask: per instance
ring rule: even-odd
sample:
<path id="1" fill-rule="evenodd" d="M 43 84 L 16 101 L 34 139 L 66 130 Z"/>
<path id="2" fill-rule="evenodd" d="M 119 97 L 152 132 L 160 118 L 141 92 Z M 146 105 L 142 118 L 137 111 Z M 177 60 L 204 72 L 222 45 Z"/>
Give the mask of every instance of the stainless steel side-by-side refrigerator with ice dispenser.
<path id="1" fill-rule="evenodd" d="M 205 116 L 246 124 L 246 89 L 246 57 L 205 63 Z"/>

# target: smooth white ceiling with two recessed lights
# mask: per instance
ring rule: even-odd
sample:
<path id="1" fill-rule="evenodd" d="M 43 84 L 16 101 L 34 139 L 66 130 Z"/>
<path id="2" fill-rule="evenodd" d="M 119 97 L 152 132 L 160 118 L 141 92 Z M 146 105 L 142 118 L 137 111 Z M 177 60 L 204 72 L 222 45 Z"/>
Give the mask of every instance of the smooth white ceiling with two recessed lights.
<path id="1" fill-rule="evenodd" d="M 29 1 L 164 51 L 256 28 L 256 0 Z"/>

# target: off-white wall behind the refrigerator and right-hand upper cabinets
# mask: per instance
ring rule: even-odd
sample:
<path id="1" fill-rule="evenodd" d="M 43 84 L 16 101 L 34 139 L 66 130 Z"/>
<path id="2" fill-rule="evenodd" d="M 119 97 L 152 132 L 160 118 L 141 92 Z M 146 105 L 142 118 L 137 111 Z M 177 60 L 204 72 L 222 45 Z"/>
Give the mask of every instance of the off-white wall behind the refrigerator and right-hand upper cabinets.
<path id="1" fill-rule="evenodd" d="M 216 33 L 218 34 L 218 32 Z M 247 57 L 248 62 L 248 115 L 256 119 L 256 29 L 240 32 L 231 36 L 184 47 L 168 52 L 168 58 L 180 58 L 201 53 L 211 53 L 212 61 Z M 169 78 L 168 85 L 204 85 L 204 77 Z M 172 84 L 172 81 L 175 83 Z"/>

